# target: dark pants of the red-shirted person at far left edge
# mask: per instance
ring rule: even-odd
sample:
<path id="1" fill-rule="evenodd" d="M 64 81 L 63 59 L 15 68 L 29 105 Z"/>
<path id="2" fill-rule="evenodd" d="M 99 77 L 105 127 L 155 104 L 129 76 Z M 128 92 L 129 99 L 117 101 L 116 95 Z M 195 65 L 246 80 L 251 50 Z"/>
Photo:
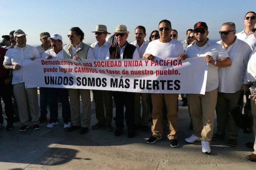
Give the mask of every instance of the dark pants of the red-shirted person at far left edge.
<path id="1" fill-rule="evenodd" d="M 7 116 L 7 123 L 13 123 L 14 119 L 14 110 L 12 105 L 12 85 L 4 84 L 4 79 L 0 79 L 0 101 L 1 98 L 4 102 L 5 115 Z M 1 105 L 1 104 L 0 104 Z M 3 123 L 3 110 L 2 106 L 0 107 L 0 123 Z"/>

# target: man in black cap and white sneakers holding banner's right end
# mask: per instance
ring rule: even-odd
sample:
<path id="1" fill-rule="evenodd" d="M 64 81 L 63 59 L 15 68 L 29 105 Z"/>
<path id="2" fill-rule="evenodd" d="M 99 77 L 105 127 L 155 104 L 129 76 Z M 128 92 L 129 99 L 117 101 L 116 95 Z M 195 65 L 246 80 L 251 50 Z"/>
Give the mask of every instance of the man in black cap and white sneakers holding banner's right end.
<path id="1" fill-rule="evenodd" d="M 194 25 L 196 43 L 186 50 L 188 58 L 204 57 L 208 63 L 206 93 L 187 94 L 189 111 L 193 123 L 193 134 L 185 141 L 193 143 L 201 141 L 202 152 L 211 153 L 210 142 L 213 134 L 214 110 L 217 103 L 217 88 L 219 85 L 218 67 L 231 66 L 231 59 L 220 44 L 207 38 L 208 27 L 204 22 Z M 203 124 L 203 128 L 202 128 Z"/>

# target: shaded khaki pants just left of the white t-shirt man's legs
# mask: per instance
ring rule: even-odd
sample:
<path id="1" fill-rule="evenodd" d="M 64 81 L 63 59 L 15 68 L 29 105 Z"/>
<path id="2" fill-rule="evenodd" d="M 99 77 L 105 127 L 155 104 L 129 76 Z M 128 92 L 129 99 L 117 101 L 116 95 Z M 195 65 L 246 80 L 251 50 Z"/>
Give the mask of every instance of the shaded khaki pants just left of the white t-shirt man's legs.
<path id="1" fill-rule="evenodd" d="M 150 118 L 150 93 L 135 93 L 134 113 L 135 124 L 147 125 Z M 140 96 L 142 100 L 142 116 L 140 116 Z"/>

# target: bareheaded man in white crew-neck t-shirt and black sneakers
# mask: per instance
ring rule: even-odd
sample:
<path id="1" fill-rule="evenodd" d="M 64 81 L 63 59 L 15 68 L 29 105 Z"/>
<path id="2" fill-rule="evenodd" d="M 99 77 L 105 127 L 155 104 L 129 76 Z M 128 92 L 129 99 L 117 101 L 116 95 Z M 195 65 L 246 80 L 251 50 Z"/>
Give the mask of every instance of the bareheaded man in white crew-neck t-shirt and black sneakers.
<path id="1" fill-rule="evenodd" d="M 168 20 L 160 21 L 158 25 L 160 39 L 151 41 L 143 58 L 154 60 L 154 58 L 166 59 L 177 58 L 184 60 L 185 55 L 182 55 L 184 50 L 180 41 L 170 38 L 172 31 L 171 22 Z M 162 110 L 163 103 L 166 103 L 167 119 L 169 122 L 169 134 L 171 147 L 178 147 L 177 130 L 178 130 L 178 113 L 177 113 L 177 100 L 178 94 L 151 94 L 152 99 L 152 133 L 153 135 L 147 140 L 147 143 L 155 143 L 157 140 L 162 139 L 163 126 L 162 126 Z"/>

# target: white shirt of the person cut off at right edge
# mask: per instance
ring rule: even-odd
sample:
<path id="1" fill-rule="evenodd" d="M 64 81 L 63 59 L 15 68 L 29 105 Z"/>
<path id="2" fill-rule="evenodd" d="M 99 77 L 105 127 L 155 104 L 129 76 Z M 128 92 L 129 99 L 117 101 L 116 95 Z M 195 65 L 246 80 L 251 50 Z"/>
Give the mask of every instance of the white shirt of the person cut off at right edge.
<path id="1" fill-rule="evenodd" d="M 256 48 L 250 54 L 250 59 L 247 66 L 247 80 L 249 82 L 256 81 Z"/>

